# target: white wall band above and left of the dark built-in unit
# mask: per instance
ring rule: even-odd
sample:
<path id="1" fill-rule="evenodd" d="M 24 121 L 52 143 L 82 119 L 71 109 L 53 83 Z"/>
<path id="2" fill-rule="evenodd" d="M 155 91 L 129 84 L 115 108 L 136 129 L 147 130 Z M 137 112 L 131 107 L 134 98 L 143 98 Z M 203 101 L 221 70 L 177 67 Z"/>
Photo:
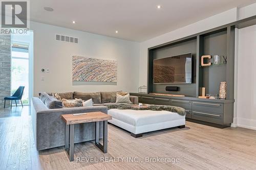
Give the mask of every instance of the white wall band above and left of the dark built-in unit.
<path id="1" fill-rule="evenodd" d="M 203 32 L 212 28 L 223 26 L 236 20 L 237 8 L 233 8 L 223 13 L 192 23 L 191 25 L 188 25 L 186 27 L 142 42 L 140 44 L 139 86 L 147 84 L 147 48 L 165 42 L 173 41 L 179 38 L 183 38 L 189 35 L 193 35 L 199 32 Z"/>

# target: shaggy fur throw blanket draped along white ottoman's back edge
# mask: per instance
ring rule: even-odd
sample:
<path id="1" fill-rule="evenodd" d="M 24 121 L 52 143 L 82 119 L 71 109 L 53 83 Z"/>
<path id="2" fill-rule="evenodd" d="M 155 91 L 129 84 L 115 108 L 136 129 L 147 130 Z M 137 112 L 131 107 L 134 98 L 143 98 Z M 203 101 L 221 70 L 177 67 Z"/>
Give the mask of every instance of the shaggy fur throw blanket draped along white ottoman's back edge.
<path id="1" fill-rule="evenodd" d="M 135 107 L 138 105 L 134 104 L 110 104 L 107 105 L 108 110 L 109 109 L 120 109 L 120 110 L 127 110 L 127 109 L 132 109 L 132 110 L 154 110 L 154 111 L 169 111 L 169 112 L 175 112 L 178 113 L 181 116 L 186 115 L 185 109 L 181 107 L 176 107 L 176 106 L 165 106 L 165 105 L 146 105 L 147 107 Z"/>

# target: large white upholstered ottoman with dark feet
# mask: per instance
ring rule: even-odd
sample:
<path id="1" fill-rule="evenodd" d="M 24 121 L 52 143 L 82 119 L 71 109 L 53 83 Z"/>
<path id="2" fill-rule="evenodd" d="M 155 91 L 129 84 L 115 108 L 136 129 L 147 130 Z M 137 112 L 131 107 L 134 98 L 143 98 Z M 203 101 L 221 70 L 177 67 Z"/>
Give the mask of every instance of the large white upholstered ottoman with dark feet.
<path id="1" fill-rule="evenodd" d="M 112 116 L 109 123 L 131 132 L 133 137 L 160 129 L 185 127 L 185 115 L 169 111 L 110 109 L 108 114 Z"/>

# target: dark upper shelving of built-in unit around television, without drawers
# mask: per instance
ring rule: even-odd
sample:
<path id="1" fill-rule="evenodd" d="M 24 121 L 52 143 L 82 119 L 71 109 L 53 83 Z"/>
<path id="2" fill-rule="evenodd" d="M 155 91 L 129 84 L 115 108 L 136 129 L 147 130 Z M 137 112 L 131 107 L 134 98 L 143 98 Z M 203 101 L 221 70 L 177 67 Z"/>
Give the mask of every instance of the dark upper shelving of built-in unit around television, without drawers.
<path id="1" fill-rule="evenodd" d="M 176 40 L 168 44 L 148 49 L 148 93 L 182 94 L 198 98 L 200 89 L 206 88 L 208 94 L 218 94 L 220 83 L 227 82 L 227 99 L 233 99 L 234 85 L 234 29 L 225 28 L 210 30 L 192 37 Z M 232 53 L 233 52 L 233 53 Z M 154 59 L 191 53 L 193 57 L 193 81 L 191 84 L 154 84 Z M 220 55 L 227 57 L 226 64 L 201 66 L 201 56 Z M 179 91 L 165 91 L 166 86 L 179 86 Z"/>

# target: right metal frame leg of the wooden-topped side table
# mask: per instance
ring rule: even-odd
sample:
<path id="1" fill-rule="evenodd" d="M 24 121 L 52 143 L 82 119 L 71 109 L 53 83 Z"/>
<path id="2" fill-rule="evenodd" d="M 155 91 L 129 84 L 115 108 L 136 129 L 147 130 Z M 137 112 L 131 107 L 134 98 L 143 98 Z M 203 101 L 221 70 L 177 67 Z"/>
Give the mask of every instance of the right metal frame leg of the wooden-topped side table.
<path id="1" fill-rule="evenodd" d="M 103 152 L 108 152 L 108 120 L 103 121 L 103 145 L 99 143 L 99 122 L 95 123 L 95 145 Z"/>

